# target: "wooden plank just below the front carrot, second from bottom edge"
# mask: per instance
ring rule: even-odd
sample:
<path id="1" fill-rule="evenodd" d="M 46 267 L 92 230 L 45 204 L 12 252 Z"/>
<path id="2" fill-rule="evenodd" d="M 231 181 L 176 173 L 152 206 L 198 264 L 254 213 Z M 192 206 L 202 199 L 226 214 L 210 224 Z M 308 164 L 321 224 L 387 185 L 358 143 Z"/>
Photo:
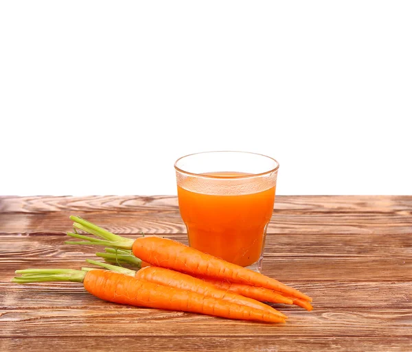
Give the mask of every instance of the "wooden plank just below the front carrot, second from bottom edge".
<path id="1" fill-rule="evenodd" d="M 97 299 L 97 298 L 96 298 Z M 14 336 L 363 336 L 412 337 L 411 309 L 296 310 L 286 324 L 129 307 L 0 311 L 3 337 Z M 87 327 L 87 329 L 84 329 Z"/>

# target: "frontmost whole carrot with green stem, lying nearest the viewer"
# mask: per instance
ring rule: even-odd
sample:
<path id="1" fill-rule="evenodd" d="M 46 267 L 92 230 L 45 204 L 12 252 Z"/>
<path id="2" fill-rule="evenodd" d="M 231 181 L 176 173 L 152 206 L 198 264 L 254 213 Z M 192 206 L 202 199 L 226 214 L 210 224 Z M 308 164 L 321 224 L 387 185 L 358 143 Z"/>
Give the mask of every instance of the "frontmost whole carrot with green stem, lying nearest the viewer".
<path id="1" fill-rule="evenodd" d="M 128 275 L 108 270 L 71 269 L 27 269 L 16 270 L 21 277 L 12 279 L 16 283 L 38 281 L 82 282 L 84 288 L 98 298 L 114 303 L 177 310 L 220 316 L 222 318 L 257 320 L 263 322 L 284 322 L 284 319 L 260 309 L 244 307 L 221 299 L 206 297 L 196 292 L 158 285 Z"/>

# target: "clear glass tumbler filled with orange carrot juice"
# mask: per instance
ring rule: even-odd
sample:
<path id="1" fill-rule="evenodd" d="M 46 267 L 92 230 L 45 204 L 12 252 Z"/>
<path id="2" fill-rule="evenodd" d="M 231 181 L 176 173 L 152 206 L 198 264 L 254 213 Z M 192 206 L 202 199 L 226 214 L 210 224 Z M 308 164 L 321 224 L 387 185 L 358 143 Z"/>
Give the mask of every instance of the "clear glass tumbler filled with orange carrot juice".
<path id="1" fill-rule="evenodd" d="M 189 245 L 260 272 L 279 163 L 249 152 L 204 152 L 174 168 Z"/>

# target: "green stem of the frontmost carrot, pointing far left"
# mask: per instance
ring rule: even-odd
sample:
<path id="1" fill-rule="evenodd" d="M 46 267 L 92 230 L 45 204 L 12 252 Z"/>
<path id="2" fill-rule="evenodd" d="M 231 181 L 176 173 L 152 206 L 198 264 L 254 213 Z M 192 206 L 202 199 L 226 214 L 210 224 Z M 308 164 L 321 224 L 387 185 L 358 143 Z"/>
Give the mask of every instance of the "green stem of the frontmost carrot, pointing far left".
<path id="1" fill-rule="evenodd" d="M 21 277 L 14 277 L 12 282 L 30 283 L 43 281 L 83 282 L 86 272 L 73 269 L 25 269 L 16 270 Z"/>

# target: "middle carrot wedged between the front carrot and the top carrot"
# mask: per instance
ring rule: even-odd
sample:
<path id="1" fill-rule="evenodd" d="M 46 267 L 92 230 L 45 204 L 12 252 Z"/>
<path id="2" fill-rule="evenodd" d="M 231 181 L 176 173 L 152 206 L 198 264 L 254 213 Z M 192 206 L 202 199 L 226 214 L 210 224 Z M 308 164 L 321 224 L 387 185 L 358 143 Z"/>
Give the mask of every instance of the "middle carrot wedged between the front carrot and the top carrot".
<path id="1" fill-rule="evenodd" d="M 122 272 L 123 274 L 134 276 L 137 279 L 149 281 L 152 283 L 159 283 L 159 285 L 170 286 L 172 288 L 179 288 L 181 290 L 196 292 L 198 294 L 202 294 L 203 296 L 214 297 L 222 299 L 223 301 L 236 303 L 238 305 L 244 305 L 246 307 L 261 309 L 263 311 L 276 314 L 277 316 L 280 316 L 284 319 L 287 318 L 287 316 L 285 316 L 281 312 L 278 312 L 273 307 L 266 305 L 262 302 L 241 296 L 240 294 L 234 294 L 232 292 L 220 290 L 216 288 L 216 286 L 212 283 L 207 283 L 202 279 L 197 279 L 196 277 L 191 277 L 190 275 L 183 274 L 181 272 L 177 272 L 174 270 L 160 268 L 157 266 L 148 266 L 138 271 L 134 271 L 126 268 L 119 268 L 118 266 L 112 266 L 110 264 L 90 259 L 87 259 L 87 262 L 95 264 L 97 266 L 102 266 L 109 270 Z"/>

